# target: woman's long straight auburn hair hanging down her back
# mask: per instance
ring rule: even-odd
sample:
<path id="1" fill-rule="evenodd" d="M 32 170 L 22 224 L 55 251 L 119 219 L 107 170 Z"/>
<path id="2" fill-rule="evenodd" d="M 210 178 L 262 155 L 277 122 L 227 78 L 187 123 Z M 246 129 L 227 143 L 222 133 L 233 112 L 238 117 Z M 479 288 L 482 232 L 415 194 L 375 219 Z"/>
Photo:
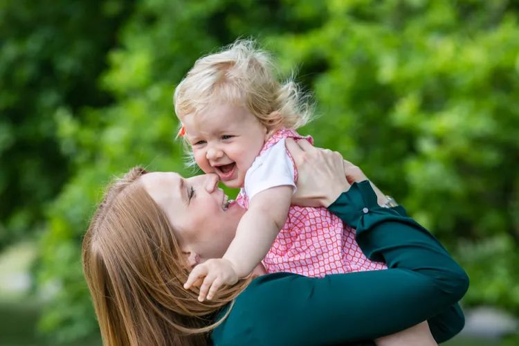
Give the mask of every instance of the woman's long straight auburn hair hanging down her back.
<path id="1" fill-rule="evenodd" d="M 165 213 L 139 181 L 146 173 L 134 167 L 109 185 L 84 236 L 83 271 L 103 344 L 206 345 L 250 280 L 205 302 L 197 289 L 183 288 L 190 266 Z"/>

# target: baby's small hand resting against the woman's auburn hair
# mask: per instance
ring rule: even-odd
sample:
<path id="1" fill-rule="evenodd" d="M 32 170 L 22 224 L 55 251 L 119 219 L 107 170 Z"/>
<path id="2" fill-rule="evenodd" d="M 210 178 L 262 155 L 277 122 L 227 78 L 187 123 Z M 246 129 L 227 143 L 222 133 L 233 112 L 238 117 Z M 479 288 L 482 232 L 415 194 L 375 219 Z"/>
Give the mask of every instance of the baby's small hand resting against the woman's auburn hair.
<path id="1" fill-rule="evenodd" d="M 190 287 L 202 278 L 203 282 L 200 286 L 198 296 L 200 302 L 203 302 L 206 297 L 208 300 L 211 300 L 220 286 L 224 284 L 235 284 L 238 281 L 238 275 L 236 274 L 233 264 L 223 258 L 207 260 L 195 266 L 188 277 L 188 281 L 184 284 L 184 289 L 190 289 Z"/>

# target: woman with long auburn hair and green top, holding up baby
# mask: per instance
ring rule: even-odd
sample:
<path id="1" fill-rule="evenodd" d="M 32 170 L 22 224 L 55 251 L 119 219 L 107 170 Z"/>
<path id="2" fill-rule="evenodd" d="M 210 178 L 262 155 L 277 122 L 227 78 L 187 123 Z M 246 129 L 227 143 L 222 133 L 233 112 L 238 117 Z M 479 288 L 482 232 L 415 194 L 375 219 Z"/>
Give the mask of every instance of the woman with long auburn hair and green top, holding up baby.
<path id="1" fill-rule="evenodd" d="M 462 329 L 456 302 L 468 279 L 437 240 L 403 208 L 381 208 L 364 174 L 338 154 L 287 147 L 299 172 L 296 201 L 327 206 L 390 269 L 322 279 L 258 271 L 199 302 L 197 290 L 183 289 L 190 268 L 226 251 L 244 210 L 228 206 L 216 176 L 134 169 L 108 190 L 83 243 L 105 345 L 344 344 L 424 320 L 441 342 Z"/>

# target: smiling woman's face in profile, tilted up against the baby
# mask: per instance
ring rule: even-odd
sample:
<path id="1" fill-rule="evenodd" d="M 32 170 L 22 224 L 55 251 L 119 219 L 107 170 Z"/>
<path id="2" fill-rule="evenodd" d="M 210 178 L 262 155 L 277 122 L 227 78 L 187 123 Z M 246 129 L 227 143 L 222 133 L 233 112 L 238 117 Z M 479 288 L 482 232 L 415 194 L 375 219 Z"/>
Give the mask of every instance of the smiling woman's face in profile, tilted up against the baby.
<path id="1" fill-rule="evenodd" d="M 173 172 L 152 172 L 140 181 L 167 215 L 182 251 L 201 261 L 224 255 L 245 210 L 236 203 L 226 208 L 217 174 L 185 179 Z"/>

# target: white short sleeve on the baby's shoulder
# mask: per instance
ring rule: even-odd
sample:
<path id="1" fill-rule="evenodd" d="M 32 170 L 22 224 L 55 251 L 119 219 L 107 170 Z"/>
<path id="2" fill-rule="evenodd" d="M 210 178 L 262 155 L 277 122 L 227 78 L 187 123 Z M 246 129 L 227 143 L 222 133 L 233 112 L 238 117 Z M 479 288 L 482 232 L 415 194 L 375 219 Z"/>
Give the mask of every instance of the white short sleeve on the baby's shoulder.
<path id="1" fill-rule="evenodd" d="M 244 182 L 245 193 L 251 201 L 255 194 L 276 186 L 290 185 L 295 192 L 293 177 L 293 163 L 286 154 L 283 138 L 257 156 L 251 168 L 247 170 Z"/>

